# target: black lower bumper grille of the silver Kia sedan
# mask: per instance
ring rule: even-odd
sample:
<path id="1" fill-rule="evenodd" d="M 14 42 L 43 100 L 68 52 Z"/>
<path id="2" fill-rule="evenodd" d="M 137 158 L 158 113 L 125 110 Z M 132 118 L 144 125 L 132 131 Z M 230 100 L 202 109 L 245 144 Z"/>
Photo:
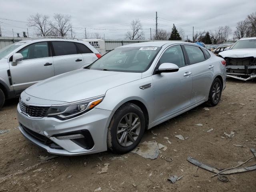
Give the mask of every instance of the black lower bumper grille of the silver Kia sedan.
<path id="1" fill-rule="evenodd" d="M 40 143 L 48 145 L 50 148 L 56 148 L 56 149 L 63 149 L 62 147 L 60 147 L 59 145 L 57 145 L 56 143 L 54 143 L 52 140 L 50 140 L 48 137 L 41 135 L 37 132 L 34 132 L 32 130 L 30 130 L 29 128 L 26 128 L 24 125 L 20 124 L 22 130 L 28 134 L 29 136 L 31 136 L 32 138 L 38 140 Z"/>

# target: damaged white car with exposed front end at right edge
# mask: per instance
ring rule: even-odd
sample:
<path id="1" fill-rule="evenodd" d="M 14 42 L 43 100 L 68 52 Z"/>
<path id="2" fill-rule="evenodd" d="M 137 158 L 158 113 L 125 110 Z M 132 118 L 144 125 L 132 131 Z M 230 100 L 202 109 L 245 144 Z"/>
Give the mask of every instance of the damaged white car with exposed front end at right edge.
<path id="1" fill-rule="evenodd" d="M 256 78 L 256 37 L 241 38 L 218 56 L 226 60 L 228 77 L 244 81 Z"/>

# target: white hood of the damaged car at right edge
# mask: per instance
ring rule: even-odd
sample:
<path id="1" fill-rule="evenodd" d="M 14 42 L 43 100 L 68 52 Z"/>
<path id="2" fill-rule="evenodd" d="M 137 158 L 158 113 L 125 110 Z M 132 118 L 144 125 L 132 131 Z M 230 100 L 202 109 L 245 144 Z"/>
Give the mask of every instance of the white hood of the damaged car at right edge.
<path id="1" fill-rule="evenodd" d="M 223 58 L 256 57 L 256 49 L 230 49 L 219 53 Z"/>

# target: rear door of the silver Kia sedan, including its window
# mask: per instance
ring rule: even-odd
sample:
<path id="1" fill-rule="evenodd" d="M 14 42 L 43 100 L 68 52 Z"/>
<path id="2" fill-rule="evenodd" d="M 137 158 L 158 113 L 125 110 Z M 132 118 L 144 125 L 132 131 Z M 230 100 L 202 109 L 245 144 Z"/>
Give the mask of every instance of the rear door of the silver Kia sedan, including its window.
<path id="1" fill-rule="evenodd" d="M 210 54 L 204 48 L 193 45 L 184 45 L 188 56 L 190 71 L 193 74 L 193 88 L 191 103 L 204 100 L 208 97 L 214 76 L 214 64 L 211 63 Z"/>

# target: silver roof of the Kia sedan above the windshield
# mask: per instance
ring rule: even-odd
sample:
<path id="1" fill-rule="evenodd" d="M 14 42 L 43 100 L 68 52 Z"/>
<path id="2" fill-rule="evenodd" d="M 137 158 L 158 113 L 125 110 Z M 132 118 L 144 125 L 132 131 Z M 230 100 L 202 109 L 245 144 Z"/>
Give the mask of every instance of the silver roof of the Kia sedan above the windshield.
<path id="1" fill-rule="evenodd" d="M 194 43 L 188 43 L 188 42 L 182 42 L 182 41 L 148 41 L 148 42 L 141 42 L 141 43 L 133 43 L 133 44 L 128 44 L 124 45 L 122 47 L 141 47 L 141 46 L 156 46 L 156 47 L 161 47 L 165 44 L 192 44 L 196 45 Z"/>

